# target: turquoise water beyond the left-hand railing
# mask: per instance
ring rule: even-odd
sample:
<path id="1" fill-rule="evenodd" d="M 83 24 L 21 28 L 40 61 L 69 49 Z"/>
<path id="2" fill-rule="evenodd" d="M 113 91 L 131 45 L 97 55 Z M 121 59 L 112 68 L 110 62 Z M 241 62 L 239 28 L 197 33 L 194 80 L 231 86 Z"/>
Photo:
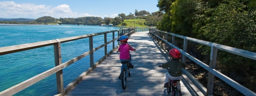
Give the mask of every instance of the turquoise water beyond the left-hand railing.
<path id="1" fill-rule="evenodd" d="M 29 25 L 0 26 L 0 47 L 54 40 L 91 33 L 118 30 L 119 27 L 84 26 L 84 25 Z M 115 38 L 117 33 L 115 33 Z M 112 33 L 107 34 L 107 42 L 112 40 Z M 104 35 L 93 37 L 93 48 L 104 43 Z M 117 42 L 115 42 L 115 46 Z M 112 43 L 107 51 L 112 50 Z M 61 43 L 62 63 L 89 51 L 89 39 Z M 94 52 L 94 62 L 104 56 L 104 47 Z M 118 57 L 117 57 L 118 58 Z M 0 91 L 19 84 L 55 67 L 53 45 L 0 56 Z M 89 56 L 78 60 L 63 69 L 64 87 L 90 67 Z M 14 95 L 55 95 L 57 94 L 55 74 Z"/>

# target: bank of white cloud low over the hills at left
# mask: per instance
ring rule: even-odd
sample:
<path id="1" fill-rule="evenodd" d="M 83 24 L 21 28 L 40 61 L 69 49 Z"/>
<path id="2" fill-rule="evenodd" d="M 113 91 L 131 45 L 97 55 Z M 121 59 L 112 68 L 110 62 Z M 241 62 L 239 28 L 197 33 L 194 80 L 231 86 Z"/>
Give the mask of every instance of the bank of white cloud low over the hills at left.
<path id="1" fill-rule="evenodd" d="M 77 14 L 72 12 L 69 5 L 62 4 L 57 7 L 35 4 L 17 4 L 14 2 L 0 2 L 0 18 L 40 18 L 51 16 L 53 18 L 101 17 L 88 13 Z"/>

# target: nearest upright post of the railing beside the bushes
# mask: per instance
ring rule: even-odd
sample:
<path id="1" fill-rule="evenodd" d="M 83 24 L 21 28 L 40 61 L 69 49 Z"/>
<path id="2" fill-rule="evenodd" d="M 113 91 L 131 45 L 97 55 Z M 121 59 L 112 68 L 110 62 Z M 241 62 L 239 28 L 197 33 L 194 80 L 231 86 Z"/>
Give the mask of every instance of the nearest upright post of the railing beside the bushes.
<path id="1" fill-rule="evenodd" d="M 211 57 L 210 57 L 210 66 L 211 68 L 216 68 L 216 59 L 217 59 L 217 52 L 218 49 L 215 48 L 215 43 L 212 45 L 211 48 Z M 213 95 L 213 83 L 214 83 L 214 74 L 211 72 L 208 73 L 208 82 L 207 82 L 207 91 L 206 95 Z"/>

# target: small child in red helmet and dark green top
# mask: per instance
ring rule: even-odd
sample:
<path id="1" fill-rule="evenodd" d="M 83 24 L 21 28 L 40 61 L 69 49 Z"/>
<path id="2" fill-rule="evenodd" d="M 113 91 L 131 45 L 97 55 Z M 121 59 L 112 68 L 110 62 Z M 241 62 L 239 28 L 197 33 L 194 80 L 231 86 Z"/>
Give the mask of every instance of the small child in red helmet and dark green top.
<path id="1" fill-rule="evenodd" d="M 170 82 L 171 79 L 182 78 L 182 68 L 185 68 L 185 64 L 180 60 L 181 54 L 177 49 L 171 49 L 169 51 L 170 59 L 168 62 L 162 64 L 162 68 L 169 68 L 170 70 L 165 74 L 165 86 Z M 181 93 L 181 83 L 177 82 L 176 87 Z"/>

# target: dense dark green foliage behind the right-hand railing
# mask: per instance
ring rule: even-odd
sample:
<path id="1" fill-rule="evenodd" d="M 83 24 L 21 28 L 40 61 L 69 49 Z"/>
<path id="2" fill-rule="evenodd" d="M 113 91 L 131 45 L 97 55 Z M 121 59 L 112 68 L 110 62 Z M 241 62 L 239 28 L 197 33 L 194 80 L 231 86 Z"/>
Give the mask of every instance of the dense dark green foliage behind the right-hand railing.
<path id="1" fill-rule="evenodd" d="M 157 7 L 165 12 L 157 23 L 159 30 L 256 52 L 255 0 L 159 0 Z M 203 55 L 210 54 L 209 47 L 200 45 L 198 49 Z M 226 70 L 224 74 L 255 78 L 255 60 L 223 51 L 218 51 L 217 60 L 218 67 Z M 255 83 L 247 80 L 237 82 Z M 255 92 L 250 83 L 245 86 Z"/>

